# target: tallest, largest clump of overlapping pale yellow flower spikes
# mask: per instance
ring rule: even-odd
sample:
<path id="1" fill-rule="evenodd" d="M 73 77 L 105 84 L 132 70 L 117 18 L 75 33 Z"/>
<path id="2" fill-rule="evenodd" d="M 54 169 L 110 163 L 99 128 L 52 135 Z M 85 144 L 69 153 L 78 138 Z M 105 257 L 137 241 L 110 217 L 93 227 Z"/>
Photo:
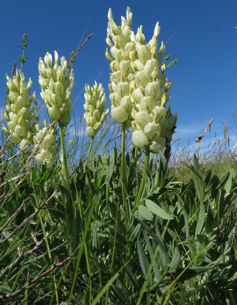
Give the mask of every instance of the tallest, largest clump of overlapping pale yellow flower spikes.
<path id="1" fill-rule="evenodd" d="M 138 28 L 136 35 L 131 30 L 132 13 L 129 8 L 127 20 L 122 17 L 119 27 L 113 20 L 111 9 L 108 18 L 108 35 L 114 43 L 107 36 L 114 58 L 109 56 L 107 49 L 106 56 L 111 61 L 112 70 L 109 85 L 111 116 L 119 124 L 126 121 L 126 128 L 132 125 L 135 146 L 149 147 L 151 152 L 158 153 L 165 147 L 164 136 L 171 141 L 177 121 L 177 113 L 173 115 L 170 107 L 166 109 L 170 83 L 164 74 L 165 65 L 161 63 L 165 50 L 163 42 L 158 50 L 159 23 L 151 40 L 144 45 L 142 27 Z"/>

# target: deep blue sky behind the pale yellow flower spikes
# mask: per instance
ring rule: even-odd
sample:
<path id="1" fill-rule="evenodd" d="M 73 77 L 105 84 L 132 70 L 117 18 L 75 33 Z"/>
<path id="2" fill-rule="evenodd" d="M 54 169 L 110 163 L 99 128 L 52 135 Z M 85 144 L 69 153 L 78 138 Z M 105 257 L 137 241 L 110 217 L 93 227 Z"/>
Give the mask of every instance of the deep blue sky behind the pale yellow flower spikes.
<path id="1" fill-rule="evenodd" d="M 170 90 L 172 112 L 178 113 L 177 134 L 180 145 L 202 133 L 212 117 L 215 117 L 210 138 L 214 131 L 217 137 L 223 135 L 223 120 L 226 125 L 236 110 L 237 96 L 237 1 L 1 1 L 1 74 L 0 99 L 1 112 L 5 98 L 5 73 L 11 74 L 14 61 L 20 68 L 18 56 L 21 54 L 20 38 L 27 34 L 27 62 L 24 64 L 26 79 L 33 80 L 32 90 L 41 102 L 38 84 L 38 59 L 43 52 L 69 57 L 77 47 L 86 25 L 84 39 L 93 36 L 79 51 L 74 67 L 75 87 L 71 91 L 72 100 L 83 91 L 84 85 L 98 83 L 105 88 L 109 102 L 109 61 L 106 51 L 108 9 L 111 7 L 114 20 L 121 24 L 121 15 L 126 17 L 126 8 L 133 13 L 132 29 L 143 26 L 145 41 L 153 35 L 157 21 L 161 27 L 158 44 L 166 44 L 163 56 L 171 54 L 178 63 L 167 70 L 166 76 L 174 84 Z M 186 88 L 187 87 L 187 88 Z M 184 89 L 185 88 L 185 89 Z M 183 90 L 184 89 L 184 90 Z M 181 92 L 181 93 L 180 93 Z M 74 106 L 80 116 L 84 104 L 84 91 Z M 231 145 L 236 142 L 236 122 L 231 131 Z M 202 139 L 202 145 L 209 142 L 209 131 Z"/>

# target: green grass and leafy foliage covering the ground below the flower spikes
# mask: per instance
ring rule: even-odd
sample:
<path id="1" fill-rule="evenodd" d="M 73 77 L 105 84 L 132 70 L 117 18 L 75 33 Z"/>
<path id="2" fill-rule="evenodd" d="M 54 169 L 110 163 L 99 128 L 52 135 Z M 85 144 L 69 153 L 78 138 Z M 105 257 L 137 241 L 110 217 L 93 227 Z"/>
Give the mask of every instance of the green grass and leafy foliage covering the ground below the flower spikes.
<path id="1" fill-rule="evenodd" d="M 85 166 L 88 147 L 85 142 L 67 149 L 68 189 L 56 164 L 46 169 L 31 152 L 22 160 L 12 143 L 3 145 L 0 300 L 235 304 L 232 156 L 227 151 L 199 156 L 201 167 L 190 151 L 180 152 L 181 159 L 177 150 L 168 166 L 166 151 L 150 161 L 135 206 L 144 175 L 142 152 L 125 154 L 124 205 L 122 152 L 114 147 L 109 155 L 98 155 L 103 143 L 95 141 Z"/>

